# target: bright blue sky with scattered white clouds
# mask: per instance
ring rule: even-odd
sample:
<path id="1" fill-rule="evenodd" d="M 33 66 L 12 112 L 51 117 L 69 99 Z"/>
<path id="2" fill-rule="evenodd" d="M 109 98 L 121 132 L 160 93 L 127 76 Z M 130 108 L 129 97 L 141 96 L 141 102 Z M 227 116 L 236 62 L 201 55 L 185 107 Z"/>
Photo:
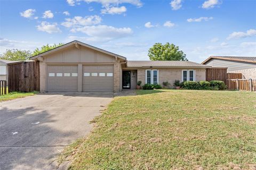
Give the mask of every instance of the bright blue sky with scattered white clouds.
<path id="1" fill-rule="evenodd" d="M 256 56 L 256 1 L 0 0 L 0 53 L 79 40 L 127 60 L 149 60 L 155 43 L 189 61 Z"/>

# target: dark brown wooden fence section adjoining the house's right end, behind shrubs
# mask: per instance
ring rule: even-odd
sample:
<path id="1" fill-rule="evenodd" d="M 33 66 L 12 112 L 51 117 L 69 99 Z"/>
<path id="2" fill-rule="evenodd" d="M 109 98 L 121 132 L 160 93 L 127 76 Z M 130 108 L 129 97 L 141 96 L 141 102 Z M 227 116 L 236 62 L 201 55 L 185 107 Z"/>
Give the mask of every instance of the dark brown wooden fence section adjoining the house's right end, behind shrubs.
<path id="1" fill-rule="evenodd" d="M 227 68 L 211 68 L 206 69 L 206 81 L 220 80 L 226 82 Z"/>

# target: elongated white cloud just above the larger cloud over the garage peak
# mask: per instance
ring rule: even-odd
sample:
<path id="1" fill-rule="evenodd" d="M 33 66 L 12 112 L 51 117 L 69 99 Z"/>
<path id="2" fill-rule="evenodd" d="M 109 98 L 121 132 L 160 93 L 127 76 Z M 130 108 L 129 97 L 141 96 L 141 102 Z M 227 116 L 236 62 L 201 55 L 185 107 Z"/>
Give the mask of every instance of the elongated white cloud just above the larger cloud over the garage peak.
<path id="1" fill-rule="evenodd" d="M 85 16 L 84 18 L 82 16 L 75 16 L 73 19 L 66 18 L 65 20 L 66 21 L 62 22 L 61 25 L 67 28 L 101 23 L 101 18 L 98 15 Z"/>

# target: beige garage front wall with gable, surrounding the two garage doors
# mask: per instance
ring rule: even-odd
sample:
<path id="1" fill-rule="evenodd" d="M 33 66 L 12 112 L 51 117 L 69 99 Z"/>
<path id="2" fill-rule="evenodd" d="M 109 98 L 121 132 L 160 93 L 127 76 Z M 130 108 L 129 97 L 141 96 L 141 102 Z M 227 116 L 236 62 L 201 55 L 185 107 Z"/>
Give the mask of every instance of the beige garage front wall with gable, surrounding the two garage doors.
<path id="1" fill-rule="evenodd" d="M 84 64 L 114 64 L 114 91 L 118 92 L 120 90 L 120 62 L 124 62 L 124 60 L 120 58 L 116 60 L 114 56 L 84 46 L 80 46 L 79 49 L 75 46 L 67 47 L 43 56 L 43 61 L 40 62 L 40 91 L 45 92 L 47 89 L 47 65 L 76 65 L 78 79 L 82 79 L 82 65 Z M 82 91 L 82 80 L 78 80 L 77 86 L 77 91 Z"/>

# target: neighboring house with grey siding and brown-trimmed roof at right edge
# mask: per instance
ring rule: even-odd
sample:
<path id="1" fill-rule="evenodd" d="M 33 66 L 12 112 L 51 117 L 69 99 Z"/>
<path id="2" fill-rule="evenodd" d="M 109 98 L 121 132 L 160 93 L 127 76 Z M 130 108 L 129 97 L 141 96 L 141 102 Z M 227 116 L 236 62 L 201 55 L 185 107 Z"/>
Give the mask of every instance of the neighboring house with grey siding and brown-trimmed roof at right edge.
<path id="1" fill-rule="evenodd" d="M 243 79 L 256 79 L 256 57 L 211 56 L 202 64 L 227 67 L 228 73 L 242 73 Z"/>

